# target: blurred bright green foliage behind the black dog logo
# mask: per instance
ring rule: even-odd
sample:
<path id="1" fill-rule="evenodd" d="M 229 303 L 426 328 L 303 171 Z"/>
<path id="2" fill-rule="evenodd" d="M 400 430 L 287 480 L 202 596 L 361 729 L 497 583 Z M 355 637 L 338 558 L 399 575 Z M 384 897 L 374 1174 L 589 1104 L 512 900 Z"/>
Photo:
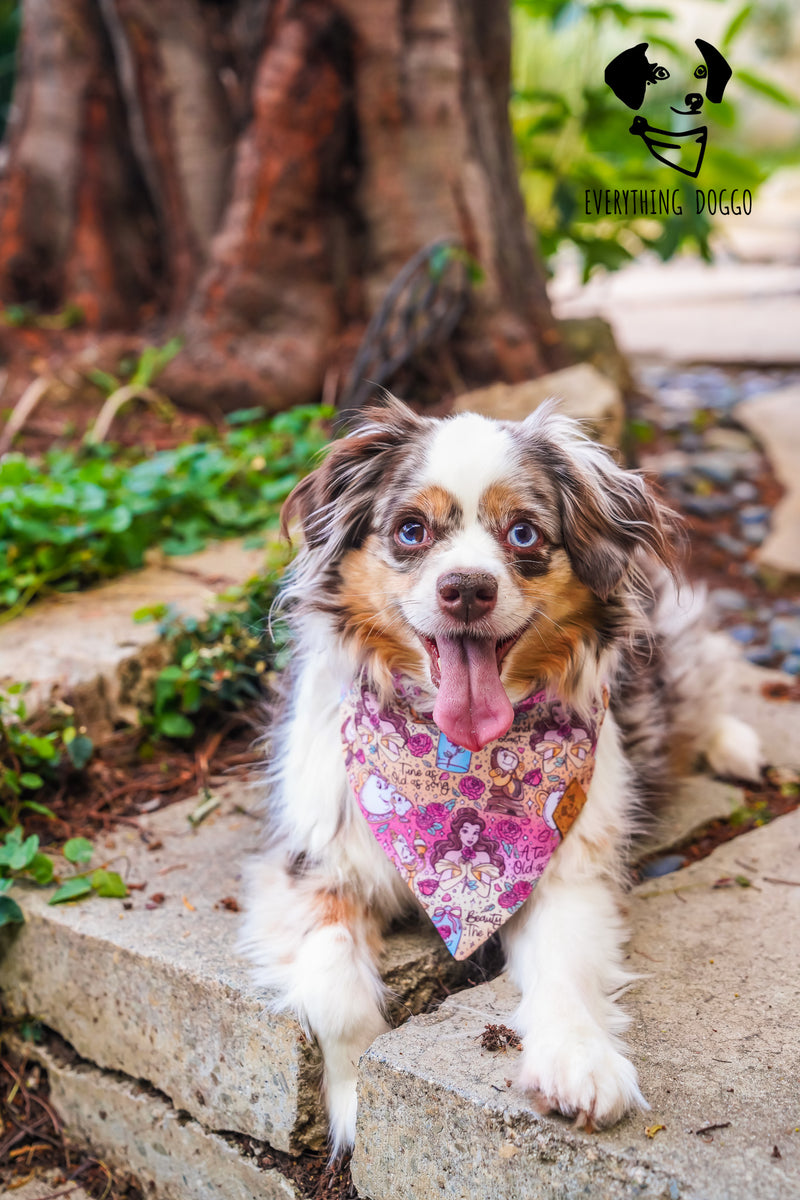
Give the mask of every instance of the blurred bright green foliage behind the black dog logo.
<path id="1" fill-rule="evenodd" d="M 549 257 L 571 244 L 579 253 L 584 278 L 594 268 L 615 269 L 643 250 L 667 259 L 685 247 L 711 257 L 711 221 L 697 212 L 694 185 L 642 152 L 627 136 L 625 109 L 603 82 L 604 65 L 632 41 L 646 40 L 688 70 L 686 49 L 670 40 L 675 13 L 670 6 L 636 8 L 606 0 L 513 0 L 513 94 L 511 122 L 528 214 L 543 253 Z M 721 50 L 732 47 L 757 12 L 745 4 L 728 24 Z M 565 64 L 570 64 L 565 71 Z M 682 77 L 681 77 L 682 79 Z M 675 86 L 681 86 L 675 79 Z M 736 68 L 732 86 L 715 106 L 714 146 L 703 164 L 705 190 L 757 190 L 769 168 L 794 162 L 796 146 L 769 156 L 760 148 L 741 148 L 738 101 L 745 89 L 781 107 L 795 97 L 752 71 Z M 670 101 L 674 103 L 674 101 Z M 587 214 L 593 191 L 678 190 L 680 214 L 663 216 L 599 216 Z"/>

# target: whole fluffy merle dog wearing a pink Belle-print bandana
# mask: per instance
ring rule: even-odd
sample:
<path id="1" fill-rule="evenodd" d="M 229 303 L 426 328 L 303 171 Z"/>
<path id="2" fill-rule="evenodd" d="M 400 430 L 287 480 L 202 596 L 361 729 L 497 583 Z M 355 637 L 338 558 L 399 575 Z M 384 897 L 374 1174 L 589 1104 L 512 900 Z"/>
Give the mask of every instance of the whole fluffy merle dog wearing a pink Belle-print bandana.
<path id="1" fill-rule="evenodd" d="M 626 851 L 675 746 L 721 774 L 759 770 L 756 734 L 724 710 L 724 652 L 698 605 L 681 608 L 674 515 L 551 404 L 515 424 L 387 397 L 295 487 L 284 532 L 295 521 L 294 661 L 241 948 L 321 1049 L 332 1151 L 353 1144 L 359 1057 L 389 1028 L 383 934 L 428 893 L 457 955 L 464 900 L 483 894 L 499 925 L 534 1106 L 594 1127 L 646 1106 L 615 1000 L 632 979 Z M 537 724 L 548 704 L 552 728 Z M 533 732 L 494 754 L 518 718 Z M 537 770 L 517 761 L 529 744 Z M 378 826 L 357 788 L 408 746 L 438 756 L 405 773 L 431 775 L 435 802 L 416 823 L 386 803 Z M 483 754 L 486 788 L 464 768 Z M 511 886 L 527 809 L 551 854 L 537 875 L 536 845 L 533 880 Z"/>

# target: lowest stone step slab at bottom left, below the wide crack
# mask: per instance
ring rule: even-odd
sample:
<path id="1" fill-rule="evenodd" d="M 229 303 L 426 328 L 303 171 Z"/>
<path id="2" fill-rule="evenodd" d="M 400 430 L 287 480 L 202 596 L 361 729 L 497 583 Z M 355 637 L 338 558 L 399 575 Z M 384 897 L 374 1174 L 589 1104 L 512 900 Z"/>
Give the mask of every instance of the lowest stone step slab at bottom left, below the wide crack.
<path id="1" fill-rule="evenodd" d="M 47 1068 L 50 1104 L 70 1138 L 134 1175 L 158 1200 L 300 1200 L 284 1175 L 261 1169 L 233 1139 L 176 1112 L 145 1084 L 98 1070 L 48 1043 L 25 1043 L 24 1051 Z M 60 1189 L 40 1188 L 30 1200 L 47 1200 L 52 1190 Z M 83 1195 L 70 1193 L 70 1200 Z"/>

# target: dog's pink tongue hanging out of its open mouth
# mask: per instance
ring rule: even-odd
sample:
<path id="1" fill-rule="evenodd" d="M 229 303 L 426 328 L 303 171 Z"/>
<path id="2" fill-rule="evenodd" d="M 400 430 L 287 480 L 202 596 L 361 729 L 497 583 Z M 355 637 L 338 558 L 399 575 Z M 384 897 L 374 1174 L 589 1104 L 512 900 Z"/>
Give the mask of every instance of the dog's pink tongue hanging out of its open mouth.
<path id="1" fill-rule="evenodd" d="M 433 720 L 467 750 L 482 750 L 507 733 L 513 708 L 500 683 L 494 642 L 449 637 L 438 643 L 441 683 Z"/>

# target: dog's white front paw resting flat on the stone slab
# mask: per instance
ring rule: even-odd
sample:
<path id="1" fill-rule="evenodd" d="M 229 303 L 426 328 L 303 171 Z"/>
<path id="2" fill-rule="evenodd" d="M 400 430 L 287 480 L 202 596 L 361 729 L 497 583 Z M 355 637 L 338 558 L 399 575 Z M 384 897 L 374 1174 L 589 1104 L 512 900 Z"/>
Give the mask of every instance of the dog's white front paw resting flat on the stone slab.
<path id="1" fill-rule="evenodd" d="M 525 1038 L 518 1081 L 537 1111 L 576 1117 L 588 1129 L 614 1124 L 631 1109 L 649 1106 L 633 1063 L 600 1030 L 575 1030 L 558 1039 Z"/>

